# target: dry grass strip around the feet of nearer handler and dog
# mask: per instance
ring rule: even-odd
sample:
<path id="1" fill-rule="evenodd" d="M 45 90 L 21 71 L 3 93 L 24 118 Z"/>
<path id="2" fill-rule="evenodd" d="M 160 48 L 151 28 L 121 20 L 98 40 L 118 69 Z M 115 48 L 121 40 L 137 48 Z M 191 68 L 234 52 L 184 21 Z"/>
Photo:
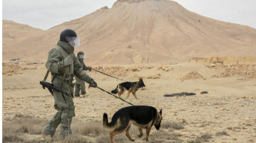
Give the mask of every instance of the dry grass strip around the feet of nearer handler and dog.
<path id="1" fill-rule="evenodd" d="M 88 121 L 81 122 L 74 119 L 75 122 L 72 123 L 72 136 L 62 140 L 59 138 L 59 128 L 57 128 L 56 134 L 53 136 L 55 143 L 93 143 L 88 140 L 88 137 L 94 137 L 96 143 L 110 143 L 109 132 L 106 131 L 101 121 Z M 47 141 L 41 141 L 40 134 L 42 133 L 43 128 L 48 123 L 48 120 L 37 119 L 32 116 L 24 116 L 23 114 L 16 114 L 15 117 L 11 120 L 4 120 L 2 122 L 2 142 L 13 142 L 13 143 L 47 143 Z M 183 136 L 180 133 L 168 132 L 168 128 L 173 129 L 183 129 L 182 123 L 179 122 L 164 122 L 163 128 L 160 130 L 151 131 L 150 134 L 150 143 L 181 143 L 179 137 Z M 144 137 L 145 137 L 145 130 Z M 135 126 L 131 127 L 130 130 L 131 136 L 138 134 L 138 128 Z M 33 139 L 28 139 L 24 137 L 25 134 L 35 135 Z M 120 143 L 130 142 L 127 136 L 124 133 L 118 134 L 115 136 L 115 141 Z"/>

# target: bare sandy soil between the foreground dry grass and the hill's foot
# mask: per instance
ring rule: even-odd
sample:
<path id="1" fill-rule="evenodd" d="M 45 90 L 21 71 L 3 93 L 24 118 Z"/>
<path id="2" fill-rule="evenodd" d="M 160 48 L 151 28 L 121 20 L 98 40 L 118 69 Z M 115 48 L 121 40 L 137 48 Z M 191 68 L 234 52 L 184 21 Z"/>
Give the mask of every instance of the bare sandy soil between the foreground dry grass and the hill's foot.
<path id="1" fill-rule="evenodd" d="M 186 120 L 186 129 L 179 131 L 184 141 L 201 133 L 216 134 L 226 131 L 230 136 L 213 136 L 209 142 L 245 143 L 256 141 L 256 79 L 241 80 L 239 76 L 213 78 L 225 69 L 221 67 L 207 68 L 204 64 L 171 65 L 173 70 L 165 72 L 142 69 L 140 72 L 127 72 L 120 77 L 128 81 L 137 81 L 134 76 L 154 76 L 159 79 L 144 79 L 145 90 L 137 92 L 138 99 L 129 96 L 128 102 L 135 105 L 154 106 L 163 109 L 164 121 Z M 183 80 L 182 77 L 196 70 L 204 79 Z M 16 114 L 50 119 L 56 110 L 53 108 L 53 97 L 48 90 L 43 90 L 39 81 L 43 79 L 46 69 L 23 70 L 22 74 L 2 75 L 2 120 L 13 118 Z M 87 72 L 98 86 L 111 91 L 121 81 L 100 73 Z M 243 79 L 243 78 L 242 78 Z M 49 78 L 48 78 L 49 80 Z M 76 120 L 102 120 L 102 114 L 111 117 L 118 109 L 129 106 L 99 89 L 90 88 L 86 84 L 85 98 L 76 98 Z M 208 94 L 200 94 L 207 91 Z M 195 96 L 164 97 L 164 94 L 178 92 L 194 92 Z M 126 98 L 126 93 L 122 95 Z M 204 124 L 204 126 L 202 126 Z M 239 127 L 240 129 L 227 129 Z M 153 129 L 155 130 L 155 128 Z M 157 131 L 155 131 L 157 132 Z M 145 142 L 136 140 L 136 142 Z"/>

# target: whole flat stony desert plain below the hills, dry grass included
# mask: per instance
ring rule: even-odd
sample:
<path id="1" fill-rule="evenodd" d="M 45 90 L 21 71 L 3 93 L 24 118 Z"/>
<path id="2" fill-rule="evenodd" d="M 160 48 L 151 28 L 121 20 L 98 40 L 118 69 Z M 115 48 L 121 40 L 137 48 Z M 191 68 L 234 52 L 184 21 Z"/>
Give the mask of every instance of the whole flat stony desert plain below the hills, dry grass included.
<path id="1" fill-rule="evenodd" d="M 2 72 L 8 69 L 7 66 L 2 64 Z M 227 73 L 230 70 L 223 66 L 209 68 L 204 63 L 171 64 L 166 67 L 170 71 L 164 71 L 159 66 L 94 68 L 131 82 L 144 77 L 146 87 L 137 92 L 138 99 L 132 95 L 126 99 L 127 92 L 121 97 L 134 105 L 163 109 L 162 127 L 160 130 L 152 128 L 150 143 L 256 142 L 255 66 L 252 67 L 253 72 L 239 74 Z M 2 142 L 43 142 L 40 141 L 40 132 L 56 112 L 50 92 L 39 84 L 45 73 L 45 68 L 27 68 L 17 74 L 2 74 Z M 122 82 L 101 73 L 87 73 L 98 83 L 98 87 L 109 92 Z M 194 79 L 200 77 L 199 74 L 202 78 Z M 155 75 L 157 78 L 151 78 Z M 201 94 L 202 91 L 208 93 Z M 104 130 L 102 125 L 103 113 L 108 114 L 110 122 L 117 110 L 130 105 L 97 88 L 88 89 L 87 83 L 86 92 L 87 97 L 74 99 L 76 116 L 71 129 L 75 139 L 72 142 L 109 143 L 109 131 Z M 181 92 L 196 95 L 164 97 L 165 94 Z M 19 127 L 11 127 L 12 124 Z M 174 124 L 181 127 L 174 127 Z M 22 131 L 18 130 L 20 126 L 23 127 Z M 88 131 L 83 135 L 79 132 L 90 127 L 100 131 Z M 31 131 L 35 128 L 37 132 Z M 58 139 L 58 132 L 59 127 L 53 136 L 54 142 L 66 142 Z M 10 137 L 12 133 L 14 135 Z M 133 127 L 131 135 L 135 137 L 135 143 L 146 142 L 144 137 L 139 139 L 137 134 L 137 129 Z M 131 142 L 125 133 L 116 135 L 115 141 Z"/>

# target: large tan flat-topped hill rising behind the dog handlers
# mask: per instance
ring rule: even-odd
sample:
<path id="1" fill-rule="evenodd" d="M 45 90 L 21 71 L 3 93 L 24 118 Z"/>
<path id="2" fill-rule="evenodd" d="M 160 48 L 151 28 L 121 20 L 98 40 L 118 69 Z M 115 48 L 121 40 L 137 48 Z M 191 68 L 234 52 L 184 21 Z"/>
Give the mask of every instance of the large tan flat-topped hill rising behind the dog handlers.
<path id="1" fill-rule="evenodd" d="M 85 62 L 99 64 L 169 64 L 191 57 L 255 56 L 256 29 L 210 19 L 169 0 L 118 0 L 79 19 L 3 47 L 3 60 L 45 62 L 63 29 L 80 37 Z M 8 48 L 7 48 L 8 47 Z"/>

